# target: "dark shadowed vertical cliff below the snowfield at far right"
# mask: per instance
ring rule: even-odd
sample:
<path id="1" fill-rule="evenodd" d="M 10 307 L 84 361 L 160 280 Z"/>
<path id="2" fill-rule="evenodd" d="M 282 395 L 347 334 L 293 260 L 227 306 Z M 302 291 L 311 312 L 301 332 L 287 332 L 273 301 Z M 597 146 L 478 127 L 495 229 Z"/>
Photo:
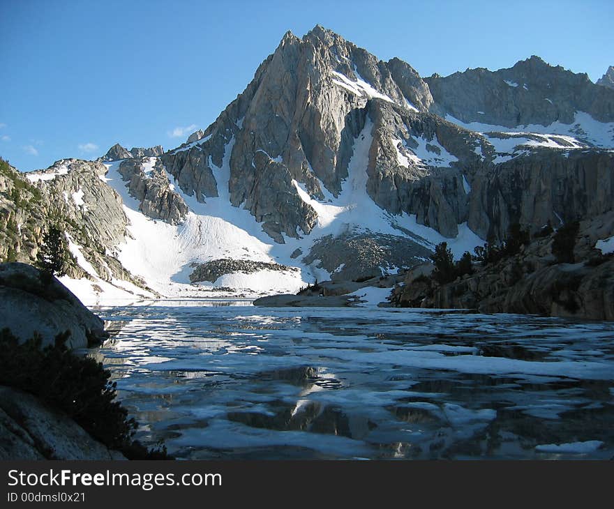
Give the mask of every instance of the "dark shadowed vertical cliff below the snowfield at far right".
<path id="1" fill-rule="evenodd" d="M 506 238 L 514 222 L 535 232 L 594 218 L 614 204 L 614 153 L 533 151 L 474 176 L 471 193 L 468 225 L 482 238 Z"/>

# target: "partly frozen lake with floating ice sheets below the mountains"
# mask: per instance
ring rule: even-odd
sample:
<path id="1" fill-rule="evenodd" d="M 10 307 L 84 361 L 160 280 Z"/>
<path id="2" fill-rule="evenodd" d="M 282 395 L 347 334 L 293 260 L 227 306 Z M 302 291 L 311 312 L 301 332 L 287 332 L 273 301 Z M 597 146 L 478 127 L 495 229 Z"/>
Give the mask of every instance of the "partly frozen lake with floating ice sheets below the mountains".
<path id="1" fill-rule="evenodd" d="M 614 324 L 211 304 L 96 310 L 137 438 L 179 458 L 614 457 Z"/>

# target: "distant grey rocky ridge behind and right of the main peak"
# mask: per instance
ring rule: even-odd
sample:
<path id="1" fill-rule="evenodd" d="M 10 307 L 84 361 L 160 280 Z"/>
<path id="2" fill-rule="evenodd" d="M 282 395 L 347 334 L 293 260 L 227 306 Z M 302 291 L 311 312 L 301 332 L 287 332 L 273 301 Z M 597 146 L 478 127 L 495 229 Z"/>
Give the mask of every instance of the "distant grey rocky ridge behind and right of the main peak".
<path id="1" fill-rule="evenodd" d="M 467 69 L 425 79 L 435 104 L 431 111 L 463 122 L 525 126 L 574 123 L 576 111 L 614 121 L 614 91 L 531 56 L 509 69 Z"/>

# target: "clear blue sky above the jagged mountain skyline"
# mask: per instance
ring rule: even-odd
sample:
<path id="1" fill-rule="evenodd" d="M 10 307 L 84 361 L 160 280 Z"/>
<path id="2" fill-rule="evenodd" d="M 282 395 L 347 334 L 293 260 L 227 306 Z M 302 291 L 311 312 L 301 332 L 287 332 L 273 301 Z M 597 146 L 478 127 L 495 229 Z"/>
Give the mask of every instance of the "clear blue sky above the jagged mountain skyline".
<path id="1" fill-rule="evenodd" d="M 537 54 L 593 81 L 607 1 L 0 0 L 0 155 L 24 171 L 114 143 L 178 146 L 244 90 L 287 30 L 319 23 L 423 76 Z"/>

